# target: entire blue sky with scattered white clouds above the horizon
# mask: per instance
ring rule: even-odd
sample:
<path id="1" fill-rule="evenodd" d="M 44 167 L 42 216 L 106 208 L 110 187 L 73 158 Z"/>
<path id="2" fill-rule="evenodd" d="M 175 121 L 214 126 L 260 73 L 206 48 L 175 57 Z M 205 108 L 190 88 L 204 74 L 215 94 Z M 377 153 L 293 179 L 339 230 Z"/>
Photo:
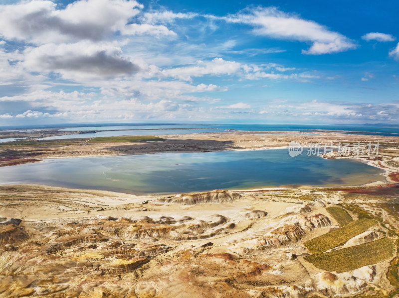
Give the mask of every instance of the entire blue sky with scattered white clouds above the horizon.
<path id="1" fill-rule="evenodd" d="M 399 121 L 397 1 L 0 4 L 0 125 Z"/>

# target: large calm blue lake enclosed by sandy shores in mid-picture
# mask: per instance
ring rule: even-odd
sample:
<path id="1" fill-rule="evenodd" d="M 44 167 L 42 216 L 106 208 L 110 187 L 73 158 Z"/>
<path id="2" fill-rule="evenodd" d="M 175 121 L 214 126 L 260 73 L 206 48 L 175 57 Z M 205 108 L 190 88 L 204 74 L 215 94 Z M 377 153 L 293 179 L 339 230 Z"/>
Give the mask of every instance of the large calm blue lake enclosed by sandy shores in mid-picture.
<path id="1" fill-rule="evenodd" d="M 48 159 L 1 167 L 0 183 L 35 183 L 128 193 L 182 193 L 282 185 L 340 186 L 381 180 L 350 160 L 290 157 L 287 149 Z"/>

